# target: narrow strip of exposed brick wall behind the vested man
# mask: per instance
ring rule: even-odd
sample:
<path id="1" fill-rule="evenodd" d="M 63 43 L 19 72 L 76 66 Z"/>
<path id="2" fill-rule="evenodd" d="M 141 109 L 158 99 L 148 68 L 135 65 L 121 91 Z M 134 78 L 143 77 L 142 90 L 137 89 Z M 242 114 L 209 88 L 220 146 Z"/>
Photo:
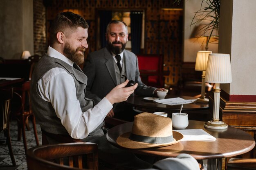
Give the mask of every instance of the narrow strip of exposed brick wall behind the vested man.
<path id="1" fill-rule="evenodd" d="M 43 0 L 33 0 L 34 10 L 34 54 L 42 55 L 47 50 L 45 6 Z"/>

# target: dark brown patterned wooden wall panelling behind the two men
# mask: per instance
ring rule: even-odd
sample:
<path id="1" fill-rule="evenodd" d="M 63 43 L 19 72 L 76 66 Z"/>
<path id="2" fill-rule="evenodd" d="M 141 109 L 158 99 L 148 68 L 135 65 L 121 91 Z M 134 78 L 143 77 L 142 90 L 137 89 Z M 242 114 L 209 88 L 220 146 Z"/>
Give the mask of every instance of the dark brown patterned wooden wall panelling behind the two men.
<path id="1" fill-rule="evenodd" d="M 96 11 L 98 9 L 144 10 L 145 11 L 145 54 L 163 54 L 164 70 L 170 70 L 166 84 L 175 85 L 180 78 L 182 64 L 182 8 L 175 0 L 45 0 L 47 28 L 54 17 L 63 11 L 72 11 L 88 21 L 88 44 L 86 50 L 97 50 Z M 164 10 L 165 9 L 165 10 Z M 167 9 L 167 10 L 166 10 Z M 168 10 L 169 9 L 169 10 Z"/>

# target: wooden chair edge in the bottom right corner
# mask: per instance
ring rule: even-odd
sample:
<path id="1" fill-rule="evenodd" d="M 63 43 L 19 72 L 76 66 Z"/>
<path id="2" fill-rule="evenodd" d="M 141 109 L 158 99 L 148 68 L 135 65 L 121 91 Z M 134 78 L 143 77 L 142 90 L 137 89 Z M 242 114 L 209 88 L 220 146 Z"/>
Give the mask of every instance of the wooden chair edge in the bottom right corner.
<path id="1" fill-rule="evenodd" d="M 231 158 L 227 163 L 227 170 L 256 170 L 256 159 Z"/>

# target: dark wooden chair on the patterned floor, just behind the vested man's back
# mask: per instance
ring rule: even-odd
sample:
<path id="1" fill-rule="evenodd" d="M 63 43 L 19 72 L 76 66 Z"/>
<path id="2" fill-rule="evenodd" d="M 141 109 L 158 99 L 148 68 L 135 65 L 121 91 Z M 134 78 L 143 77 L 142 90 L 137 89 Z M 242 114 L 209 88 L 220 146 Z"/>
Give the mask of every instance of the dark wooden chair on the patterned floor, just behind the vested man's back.
<path id="1" fill-rule="evenodd" d="M 26 141 L 26 134 L 25 134 L 25 126 L 27 126 L 27 129 L 29 128 L 29 117 L 32 119 L 33 129 L 34 129 L 34 135 L 36 139 L 36 145 L 39 146 L 38 137 L 37 137 L 37 131 L 36 131 L 36 119 L 34 116 L 34 113 L 31 110 L 31 102 L 30 102 L 30 81 L 26 81 L 22 84 L 21 87 L 16 87 L 14 90 L 14 103 L 16 104 L 16 107 L 12 107 L 11 111 L 11 117 L 15 118 L 18 122 L 18 140 L 23 138 L 23 144 L 25 148 L 25 152 L 27 151 L 27 141 Z M 17 107 L 19 102 L 21 101 L 20 107 Z M 20 109 L 17 109 L 20 108 Z"/>

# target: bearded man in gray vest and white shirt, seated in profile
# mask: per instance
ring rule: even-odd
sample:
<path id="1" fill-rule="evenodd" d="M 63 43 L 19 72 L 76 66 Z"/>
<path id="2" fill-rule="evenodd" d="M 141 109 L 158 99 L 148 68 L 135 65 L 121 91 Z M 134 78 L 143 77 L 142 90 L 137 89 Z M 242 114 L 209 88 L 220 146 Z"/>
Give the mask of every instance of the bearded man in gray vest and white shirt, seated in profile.
<path id="1" fill-rule="evenodd" d="M 80 15 L 72 12 L 60 13 L 54 19 L 50 28 L 50 46 L 31 78 L 32 109 L 44 131 L 95 142 L 100 158 L 130 167 L 129 158 L 125 158 L 126 164 L 120 159 L 127 153 L 107 142 L 103 120 L 112 105 L 127 100 L 137 84 L 125 87 L 128 83 L 125 81 L 117 85 L 97 105 L 85 98 L 87 76 L 78 64 L 84 62 L 84 52 L 88 48 L 88 27 Z M 111 160 L 115 155 L 117 158 Z M 130 156 L 133 158 L 134 155 Z M 148 166 L 137 157 L 135 159 L 132 168 L 141 167 L 141 163 Z"/>

